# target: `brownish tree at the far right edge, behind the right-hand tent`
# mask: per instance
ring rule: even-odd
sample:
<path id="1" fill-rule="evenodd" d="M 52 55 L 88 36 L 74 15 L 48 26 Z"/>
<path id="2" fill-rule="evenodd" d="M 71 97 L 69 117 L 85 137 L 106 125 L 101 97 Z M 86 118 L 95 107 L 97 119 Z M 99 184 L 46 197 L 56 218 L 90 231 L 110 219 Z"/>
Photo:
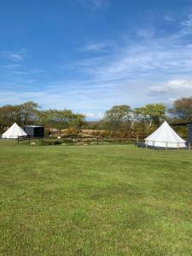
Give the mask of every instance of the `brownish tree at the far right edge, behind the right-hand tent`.
<path id="1" fill-rule="evenodd" d="M 177 99 L 169 112 L 183 121 L 192 122 L 192 96 Z"/>

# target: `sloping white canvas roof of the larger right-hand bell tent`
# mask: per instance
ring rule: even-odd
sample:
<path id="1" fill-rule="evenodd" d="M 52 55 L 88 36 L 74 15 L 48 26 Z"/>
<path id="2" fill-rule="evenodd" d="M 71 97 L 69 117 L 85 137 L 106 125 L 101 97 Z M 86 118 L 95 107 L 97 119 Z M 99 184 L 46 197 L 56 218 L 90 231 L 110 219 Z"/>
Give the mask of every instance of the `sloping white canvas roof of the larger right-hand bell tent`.
<path id="1" fill-rule="evenodd" d="M 159 143 L 185 143 L 183 138 L 179 137 L 166 121 L 150 136 L 145 138 L 145 141 Z"/>

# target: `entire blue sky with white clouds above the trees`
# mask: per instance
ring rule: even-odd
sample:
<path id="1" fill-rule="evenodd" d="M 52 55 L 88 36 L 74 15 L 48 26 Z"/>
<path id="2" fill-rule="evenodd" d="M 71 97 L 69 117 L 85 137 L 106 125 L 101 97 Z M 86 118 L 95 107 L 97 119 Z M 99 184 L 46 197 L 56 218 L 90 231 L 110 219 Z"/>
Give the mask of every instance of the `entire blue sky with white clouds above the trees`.
<path id="1" fill-rule="evenodd" d="M 0 0 L 0 105 L 99 119 L 191 95 L 191 0 Z"/>

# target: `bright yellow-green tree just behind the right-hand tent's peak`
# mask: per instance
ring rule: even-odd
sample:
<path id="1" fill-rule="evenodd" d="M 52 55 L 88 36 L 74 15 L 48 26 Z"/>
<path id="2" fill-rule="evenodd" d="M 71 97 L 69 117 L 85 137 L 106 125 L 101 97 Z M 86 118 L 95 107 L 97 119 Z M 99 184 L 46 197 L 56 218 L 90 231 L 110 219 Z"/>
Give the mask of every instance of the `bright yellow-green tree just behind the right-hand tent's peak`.
<path id="1" fill-rule="evenodd" d="M 136 108 L 135 112 L 137 119 L 143 121 L 147 131 L 150 130 L 151 126 L 160 125 L 160 121 L 165 119 L 166 107 L 163 104 L 148 104 L 141 108 Z"/>

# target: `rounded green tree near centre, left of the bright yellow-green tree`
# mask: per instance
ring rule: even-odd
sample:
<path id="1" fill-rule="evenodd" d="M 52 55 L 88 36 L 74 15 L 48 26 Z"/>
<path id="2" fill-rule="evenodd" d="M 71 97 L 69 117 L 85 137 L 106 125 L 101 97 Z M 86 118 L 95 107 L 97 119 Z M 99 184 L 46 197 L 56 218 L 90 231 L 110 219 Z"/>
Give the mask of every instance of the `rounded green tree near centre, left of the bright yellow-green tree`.
<path id="1" fill-rule="evenodd" d="M 117 133 L 121 130 L 123 123 L 129 119 L 131 108 L 127 105 L 113 106 L 113 108 L 106 111 L 103 121 L 108 126 L 109 131 Z"/>

